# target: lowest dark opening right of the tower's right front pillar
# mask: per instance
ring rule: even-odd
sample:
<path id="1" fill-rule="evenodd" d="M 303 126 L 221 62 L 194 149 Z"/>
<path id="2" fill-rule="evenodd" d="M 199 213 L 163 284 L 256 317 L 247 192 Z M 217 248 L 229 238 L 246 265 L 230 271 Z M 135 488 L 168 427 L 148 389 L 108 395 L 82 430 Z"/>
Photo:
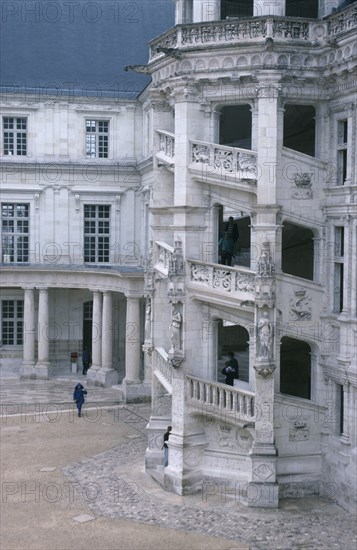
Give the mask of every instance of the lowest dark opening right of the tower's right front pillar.
<path id="1" fill-rule="evenodd" d="M 311 399 L 311 348 L 287 336 L 281 339 L 280 392 Z"/>

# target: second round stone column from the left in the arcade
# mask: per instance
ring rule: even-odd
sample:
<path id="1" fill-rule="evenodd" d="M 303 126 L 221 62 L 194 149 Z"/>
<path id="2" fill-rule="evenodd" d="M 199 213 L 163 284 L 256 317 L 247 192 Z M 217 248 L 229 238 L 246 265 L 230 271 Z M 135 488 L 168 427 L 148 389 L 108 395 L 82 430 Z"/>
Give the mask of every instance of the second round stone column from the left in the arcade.
<path id="1" fill-rule="evenodd" d="M 51 374 L 48 320 L 48 288 L 40 288 L 38 298 L 38 358 L 35 373 L 36 378 L 44 380 L 47 380 Z"/>

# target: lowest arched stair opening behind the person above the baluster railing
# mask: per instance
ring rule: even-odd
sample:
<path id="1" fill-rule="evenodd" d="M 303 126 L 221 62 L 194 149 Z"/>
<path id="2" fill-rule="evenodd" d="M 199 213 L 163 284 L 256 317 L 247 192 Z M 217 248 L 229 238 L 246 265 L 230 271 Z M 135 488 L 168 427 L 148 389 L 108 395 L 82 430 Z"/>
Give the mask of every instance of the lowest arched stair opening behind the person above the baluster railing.
<path id="1" fill-rule="evenodd" d="M 238 361 L 239 380 L 249 382 L 249 333 L 241 325 L 221 320 L 218 323 L 218 382 L 225 380 L 222 369 L 229 360 L 229 352 L 233 352 Z"/>

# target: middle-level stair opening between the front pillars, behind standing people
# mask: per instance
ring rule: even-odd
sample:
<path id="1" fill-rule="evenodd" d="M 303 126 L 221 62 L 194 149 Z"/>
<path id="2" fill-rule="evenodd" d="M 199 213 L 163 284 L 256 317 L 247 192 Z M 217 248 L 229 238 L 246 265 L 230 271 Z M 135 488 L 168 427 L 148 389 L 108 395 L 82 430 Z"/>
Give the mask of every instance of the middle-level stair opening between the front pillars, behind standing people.
<path id="1" fill-rule="evenodd" d="M 228 230 L 234 241 L 231 265 L 250 267 L 250 216 L 240 210 L 221 206 L 219 210 L 218 241 Z M 230 224 L 233 224 L 233 229 Z M 219 263 L 223 263 L 218 258 Z"/>

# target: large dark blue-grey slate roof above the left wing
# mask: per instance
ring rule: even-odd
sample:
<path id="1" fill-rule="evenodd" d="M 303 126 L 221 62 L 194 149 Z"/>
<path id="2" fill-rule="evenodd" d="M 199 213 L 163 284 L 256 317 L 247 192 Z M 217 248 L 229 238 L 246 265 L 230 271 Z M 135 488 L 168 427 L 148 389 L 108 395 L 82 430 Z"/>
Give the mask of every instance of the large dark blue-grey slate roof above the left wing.
<path id="1" fill-rule="evenodd" d="M 149 78 L 124 66 L 147 63 L 148 41 L 174 25 L 173 0 L 37 0 L 2 7 L 0 74 L 7 91 L 137 96 Z"/>

